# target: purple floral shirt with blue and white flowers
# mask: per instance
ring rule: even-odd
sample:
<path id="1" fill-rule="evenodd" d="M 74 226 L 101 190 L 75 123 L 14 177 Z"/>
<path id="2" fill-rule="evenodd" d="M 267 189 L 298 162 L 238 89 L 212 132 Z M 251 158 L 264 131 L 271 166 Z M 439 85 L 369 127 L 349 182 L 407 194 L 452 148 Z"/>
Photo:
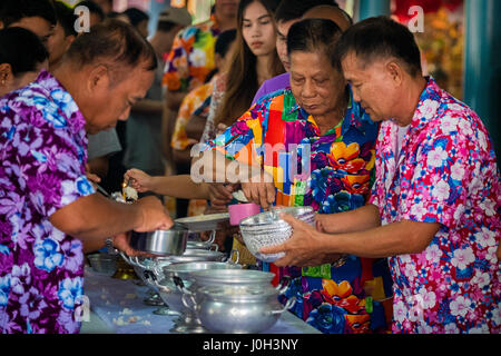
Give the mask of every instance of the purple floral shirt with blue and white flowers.
<path id="1" fill-rule="evenodd" d="M 94 194 L 85 119 L 47 71 L 0 98 L 0 333 L 78 333 L 81 241 L 49 217 Z"/>

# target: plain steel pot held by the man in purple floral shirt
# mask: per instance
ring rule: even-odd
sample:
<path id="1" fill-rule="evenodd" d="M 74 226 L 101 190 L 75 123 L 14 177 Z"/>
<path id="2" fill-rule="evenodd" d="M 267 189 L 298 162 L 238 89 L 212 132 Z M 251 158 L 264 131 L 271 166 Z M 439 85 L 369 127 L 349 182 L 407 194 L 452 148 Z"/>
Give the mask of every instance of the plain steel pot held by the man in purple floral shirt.
<path id="1" fill-rule="evenodd" d="M 156 230 L 150 233 L 132 231 L 130 246 L 139 251 L 160 256 L 180 256 L 186 250 L 188 241 L 188 229 L 175 224 L 168 230 Z"/>

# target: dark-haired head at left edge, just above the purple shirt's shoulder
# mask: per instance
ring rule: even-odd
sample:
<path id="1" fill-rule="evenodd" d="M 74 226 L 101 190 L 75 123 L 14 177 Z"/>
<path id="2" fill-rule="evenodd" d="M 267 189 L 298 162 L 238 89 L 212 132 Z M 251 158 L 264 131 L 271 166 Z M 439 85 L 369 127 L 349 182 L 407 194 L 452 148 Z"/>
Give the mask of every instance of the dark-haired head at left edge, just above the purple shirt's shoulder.
<path id="1" fill-rule="evenodd" d="M 30 30 L 11 27 L 0 30 L 0 97 L 26 87 L 48 68 L 49 53 Z"/>

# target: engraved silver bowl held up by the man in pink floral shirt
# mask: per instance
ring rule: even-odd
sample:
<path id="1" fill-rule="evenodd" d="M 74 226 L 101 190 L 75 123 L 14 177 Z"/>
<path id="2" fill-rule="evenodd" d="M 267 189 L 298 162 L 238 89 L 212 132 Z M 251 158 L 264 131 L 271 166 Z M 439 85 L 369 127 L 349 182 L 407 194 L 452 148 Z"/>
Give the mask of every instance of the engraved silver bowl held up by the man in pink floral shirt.
<path id="1" fill-rule="evenodd" d="M 284 256 L 281 254 L 261 254 L 259 249 L 285 243 L 293 233 L 291 225 L 285 222 L 279 214 L 292 215 L 306 224 L 315 224 L 315 212 L 312 207 L 291 207 L 261 212 L 240 221 L 240 233 L 247 249 L 256 258 L 273 263 Z"/>

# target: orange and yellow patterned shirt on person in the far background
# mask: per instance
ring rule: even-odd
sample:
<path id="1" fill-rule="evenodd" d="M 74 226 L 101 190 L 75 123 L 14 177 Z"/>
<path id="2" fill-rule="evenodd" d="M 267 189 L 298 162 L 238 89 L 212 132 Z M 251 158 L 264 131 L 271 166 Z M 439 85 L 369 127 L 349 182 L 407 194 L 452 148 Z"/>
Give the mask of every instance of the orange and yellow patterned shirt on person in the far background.
<path id="1" fill-rule="evenodd" d="M 170 91 L 190 91 L 205 81 L 216 68 L 214 47 L 219 27 L 213 16 L 209 21 L 180 31 L 167 57 L 164 86 Z"/>

